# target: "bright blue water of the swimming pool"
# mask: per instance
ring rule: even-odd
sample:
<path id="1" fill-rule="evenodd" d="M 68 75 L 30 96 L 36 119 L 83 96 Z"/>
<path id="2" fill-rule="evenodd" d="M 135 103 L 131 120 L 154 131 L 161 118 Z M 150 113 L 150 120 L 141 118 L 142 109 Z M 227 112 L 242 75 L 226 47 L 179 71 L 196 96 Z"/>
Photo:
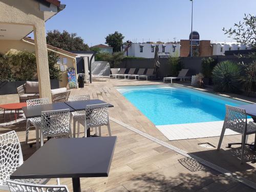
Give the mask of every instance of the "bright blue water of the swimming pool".
<path id="1" fill-rule="evenodd" d="M 225 118 L 225 104 L 247 104 L 175 85 L 122 86 L 117 90 L 155 125 L 220 121 Z"/>

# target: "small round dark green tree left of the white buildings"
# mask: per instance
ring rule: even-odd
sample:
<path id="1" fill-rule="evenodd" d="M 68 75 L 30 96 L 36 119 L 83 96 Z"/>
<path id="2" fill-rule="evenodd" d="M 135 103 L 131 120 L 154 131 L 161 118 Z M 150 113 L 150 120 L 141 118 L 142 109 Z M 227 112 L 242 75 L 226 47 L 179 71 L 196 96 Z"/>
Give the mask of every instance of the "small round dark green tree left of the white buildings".
<path id="1" fill-rule="evenodd" d="M 113 47 L 114 52 L 121 51 L 121 46 L 123 44 L 124 39 L 122 33 L 118 33 L 117 31 L 115 31 L 115 33 L 106 36 L 105 39 L 105 44 L 108 44 L 110 47 Z"/>

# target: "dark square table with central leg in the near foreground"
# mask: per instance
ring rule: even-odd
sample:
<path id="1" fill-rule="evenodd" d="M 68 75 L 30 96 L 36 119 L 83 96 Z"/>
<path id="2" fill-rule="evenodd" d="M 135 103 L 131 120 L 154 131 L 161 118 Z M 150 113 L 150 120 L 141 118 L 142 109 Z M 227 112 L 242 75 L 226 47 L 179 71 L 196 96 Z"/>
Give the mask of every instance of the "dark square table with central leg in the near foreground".
<path id="1" fill-rule="evenodd" d="M 10 179 L 108 177 L 117 137 L 50 139 L 30 156 Z"/>

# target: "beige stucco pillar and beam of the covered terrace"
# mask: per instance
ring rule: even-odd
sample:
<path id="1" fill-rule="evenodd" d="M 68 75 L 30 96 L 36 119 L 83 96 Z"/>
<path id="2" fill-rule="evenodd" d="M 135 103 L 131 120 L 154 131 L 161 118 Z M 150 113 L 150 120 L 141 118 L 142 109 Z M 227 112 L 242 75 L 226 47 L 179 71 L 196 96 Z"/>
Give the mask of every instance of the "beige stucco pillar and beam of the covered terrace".
<path id="1" fill-rule="evenodd" d="M 47 97 L 51 100 L 49 67 L 47 65 L 45 14 L 44 11 L 40 11 L 39 6 L 40 3 L 32 0 L 1 0 L 0 22 L 33 26 L 39 94 L 40 97 Z"/>

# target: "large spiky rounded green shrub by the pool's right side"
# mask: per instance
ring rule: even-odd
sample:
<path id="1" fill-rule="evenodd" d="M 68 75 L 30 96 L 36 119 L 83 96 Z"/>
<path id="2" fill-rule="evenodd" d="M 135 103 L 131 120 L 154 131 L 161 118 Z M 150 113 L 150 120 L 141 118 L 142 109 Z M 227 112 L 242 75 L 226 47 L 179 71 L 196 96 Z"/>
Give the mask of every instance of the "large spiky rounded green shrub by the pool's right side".
<path id="1" fill-rule="evenodd" d="M 214 90 L 241 93 L 241 67 L 233 61 L 222 61 L 212 71 Z"/>

